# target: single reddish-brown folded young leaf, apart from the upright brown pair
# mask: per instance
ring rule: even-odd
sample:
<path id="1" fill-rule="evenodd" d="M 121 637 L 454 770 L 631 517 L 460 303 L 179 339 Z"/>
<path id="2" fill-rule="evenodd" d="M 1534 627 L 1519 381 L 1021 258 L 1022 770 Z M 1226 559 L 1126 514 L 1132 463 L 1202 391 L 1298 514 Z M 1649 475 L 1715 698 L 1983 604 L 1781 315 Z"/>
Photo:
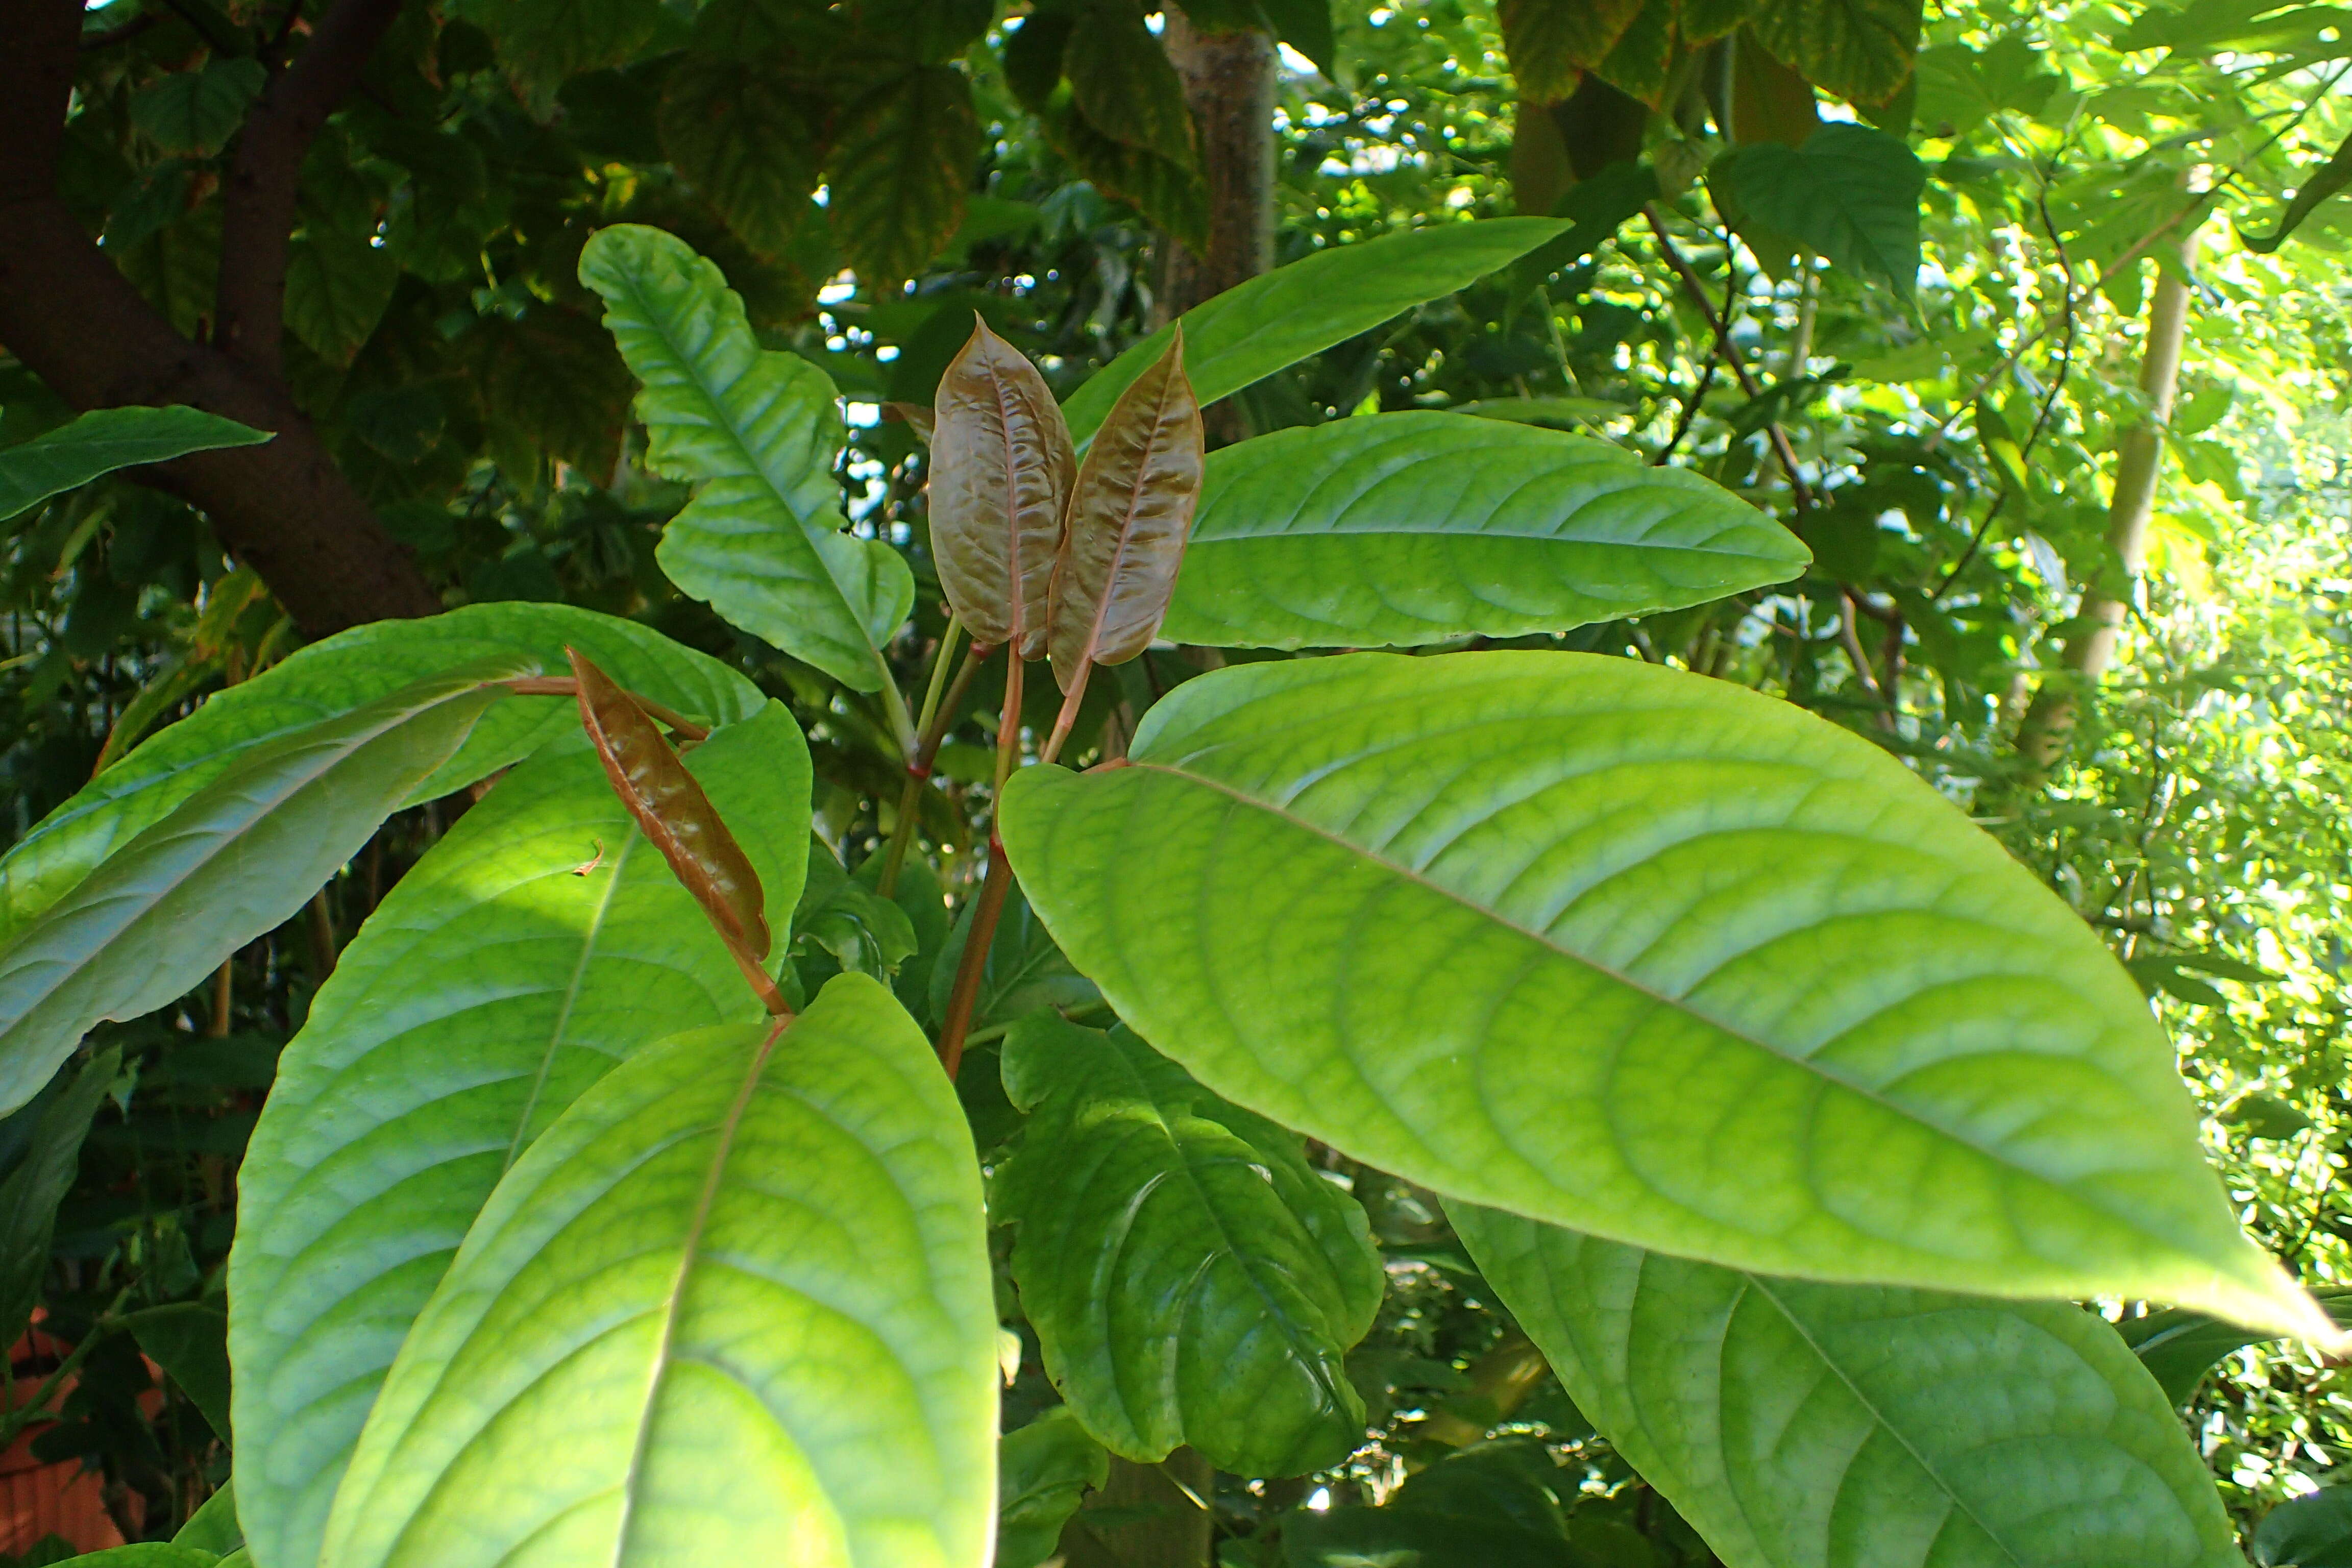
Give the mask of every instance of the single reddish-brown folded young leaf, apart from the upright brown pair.
<path id="1" fill-rule="evenodd" d="M 717 926 L 743 976 L 771 1009 L 779 1006 L 774 983 L 760 969 L 769 931 L 760 872 L 753 870 L 750 856 L 727 832 L 727 823 L 670 750 L 661 726 L 579 649 L 564 654 L 572 656 L 572 675 L 579 682 L 581 726 L 604 762 L 612 792 L 703 905 L 703 914 Z"/>

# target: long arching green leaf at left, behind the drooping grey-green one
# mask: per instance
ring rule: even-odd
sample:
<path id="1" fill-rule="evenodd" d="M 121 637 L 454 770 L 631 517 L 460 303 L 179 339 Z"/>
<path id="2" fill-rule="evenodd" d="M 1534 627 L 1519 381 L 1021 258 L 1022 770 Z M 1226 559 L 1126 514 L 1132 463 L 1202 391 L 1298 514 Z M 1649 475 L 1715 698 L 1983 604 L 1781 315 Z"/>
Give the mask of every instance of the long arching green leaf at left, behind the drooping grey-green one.
<path id="1" fill-rule="evenodd" d="M 0 940 L 56 903 L 106 856 L 235 766 L 256 745 L 348 715 L 452 665 L 522 656 L 539 672 L 564 670 L 564 646 L 595 658 L 616 682 L 703 719 L 760 710 L 760 689 L 720 661 L 661 632 L 567 604 L 470 604 L 430 621 L 376 621 L 294 654 L 268 675 L 205 701 L 129 757 L 92 778 L 0 858 Z M 548 738 L 579 729 L 569 701 L 506 701 L 487 710 L 459 752 L 423 778 L 402 806 L 496 773 Z"/>

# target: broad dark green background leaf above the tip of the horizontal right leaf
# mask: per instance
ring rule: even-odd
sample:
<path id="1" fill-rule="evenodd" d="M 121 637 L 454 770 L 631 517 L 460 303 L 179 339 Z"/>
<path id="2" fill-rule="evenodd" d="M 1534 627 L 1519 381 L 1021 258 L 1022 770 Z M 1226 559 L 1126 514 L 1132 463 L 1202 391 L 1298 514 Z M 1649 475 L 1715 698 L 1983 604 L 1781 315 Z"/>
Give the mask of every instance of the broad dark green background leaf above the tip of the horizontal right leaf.
<path id="1" fill-rule="evenodd" d="M 1759 141 L 1726 155 L 1708 186 L 1740 235 L 1804 244 L 1912 296 L 1926 167 L 1900 136 L 1823 125 L 1802 148 Z"/>

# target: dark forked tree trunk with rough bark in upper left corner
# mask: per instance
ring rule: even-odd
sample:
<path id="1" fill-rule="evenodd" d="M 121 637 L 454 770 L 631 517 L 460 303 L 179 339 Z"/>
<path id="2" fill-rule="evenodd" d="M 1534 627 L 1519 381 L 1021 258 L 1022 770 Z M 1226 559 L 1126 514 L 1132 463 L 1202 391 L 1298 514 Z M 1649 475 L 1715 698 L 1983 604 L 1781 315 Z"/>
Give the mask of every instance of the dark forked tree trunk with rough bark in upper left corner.
<path id="1" fill-rule="evenodd" d="M 278 440 L 136 477 L 200 508 L 306 637 L 440 597 L 350 487 L 278 374 L 294 188 L 400 0 L 336 0 L 238 132 L 221 214 L 219 331 L 183 339 L 56 195 L 80 0 L 0 0 L 0 346 L 75 409 L 183 402 Z"/>

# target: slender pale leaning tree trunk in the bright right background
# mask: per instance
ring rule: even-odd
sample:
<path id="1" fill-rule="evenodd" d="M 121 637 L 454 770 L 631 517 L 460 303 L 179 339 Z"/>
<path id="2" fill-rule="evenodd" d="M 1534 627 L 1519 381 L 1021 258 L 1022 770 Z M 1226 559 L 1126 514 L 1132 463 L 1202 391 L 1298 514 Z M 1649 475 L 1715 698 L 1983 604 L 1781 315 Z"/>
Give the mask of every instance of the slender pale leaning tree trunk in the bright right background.
<path id="1" fill-rule="evenodd" d="M 2147 395 L 2147 414 L 2114 442 L 2107 545 L 2114 550 L 2117 564 L 2084 588 L 2077 632 L 2065 644 L 2063 670 L 2044 677 L 2018 724 L 2018 759 L 2025 764 L 2018 783 L 2025 790 L 2039 790 L 2074 741 L 2082 698 L 2114 663 L 2114 644 L 2131 614 L 2131 592 L 2147 567 L 2147 524 L 2157 512 L 2164 425 L 2173 416 L 2180 346 L 2187 339 L 2187 235 L 2176 252 L 2161 256 L 2164 266 L 2147 301 L 2147 343 L 2140 350 L 2140 390 Z"/>

